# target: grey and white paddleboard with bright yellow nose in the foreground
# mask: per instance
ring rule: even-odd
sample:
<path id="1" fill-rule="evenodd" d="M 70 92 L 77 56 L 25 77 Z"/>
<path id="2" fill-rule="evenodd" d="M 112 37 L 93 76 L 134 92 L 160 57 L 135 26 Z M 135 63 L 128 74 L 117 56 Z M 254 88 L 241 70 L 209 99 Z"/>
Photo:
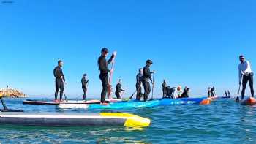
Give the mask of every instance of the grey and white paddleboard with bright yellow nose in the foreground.
<path id="1" fill-rule="evenodd" d="M 145 127 L 150 119 L 129 113 L 0 113 L 0 124 L 22 126 L 130 126 Z"/>

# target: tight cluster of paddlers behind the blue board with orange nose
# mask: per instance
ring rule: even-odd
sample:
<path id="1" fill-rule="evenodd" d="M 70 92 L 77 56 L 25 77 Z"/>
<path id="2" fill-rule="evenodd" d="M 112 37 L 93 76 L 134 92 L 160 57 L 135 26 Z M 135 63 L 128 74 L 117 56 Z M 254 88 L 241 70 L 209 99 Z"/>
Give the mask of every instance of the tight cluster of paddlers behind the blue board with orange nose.
<path id="1" fill-rule="evenodd" d="M 166 80 L 164 80 L 162 83 L 162 98 L 187 98 L 189 97 L 189 89 L 187 86 L 185 86 L 184 91 L 182 91 L 181 86 L 170 88 L 170 86 L 167 86 Z"/>

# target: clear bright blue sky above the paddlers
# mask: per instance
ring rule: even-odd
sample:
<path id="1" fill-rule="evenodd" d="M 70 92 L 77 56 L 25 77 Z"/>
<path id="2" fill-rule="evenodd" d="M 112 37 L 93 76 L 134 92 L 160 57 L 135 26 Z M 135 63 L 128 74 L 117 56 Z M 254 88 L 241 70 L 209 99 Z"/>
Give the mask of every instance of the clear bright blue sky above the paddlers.
<path id="1" fill-rule="evenodd" d="M 3 1 L 3 0 L 1 0 Z M 0 87 L 33 96 L 54 93 L 53 68 L 64 60 L 66 93 L 81 96 L 80 78 L 99 96 L 97 58 L 102 47 L 117 50 L 113 82 L 123 79 L 129 96 L 146 59 L 157 71 L 156 93 L 189 86 L 193 96 L 238 89 L 238 56 L 256 64 L 256 1 L 29 1 L 0 4 Z"/>

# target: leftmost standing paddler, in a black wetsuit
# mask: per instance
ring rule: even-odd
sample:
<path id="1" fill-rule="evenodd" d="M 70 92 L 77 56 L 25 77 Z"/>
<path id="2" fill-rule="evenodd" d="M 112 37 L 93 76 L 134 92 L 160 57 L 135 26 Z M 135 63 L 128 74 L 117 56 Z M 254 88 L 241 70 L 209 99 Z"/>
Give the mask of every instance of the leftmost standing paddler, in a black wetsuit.
<path id="1" fill-rule="evenodd" d="M 63 67 L 63 61 L 61 61 L 59 59 L 58 66 L 55 67 L 55 69 L 53 70 L 53 75 L 55 77 L 55 88 L 56 88 L 55 102 L 58 102 L 59 90 L 61 90 L 61 92 L 59 94 L 60 95 L 60 101 L 62 101 L 62 96 L 63 96 L 63 93 L 64 93 L 64 82 L 66 80 L 65 80 L 65 77 L 64 77 L 63 72 L 62 72 L 62 67 Z"/>

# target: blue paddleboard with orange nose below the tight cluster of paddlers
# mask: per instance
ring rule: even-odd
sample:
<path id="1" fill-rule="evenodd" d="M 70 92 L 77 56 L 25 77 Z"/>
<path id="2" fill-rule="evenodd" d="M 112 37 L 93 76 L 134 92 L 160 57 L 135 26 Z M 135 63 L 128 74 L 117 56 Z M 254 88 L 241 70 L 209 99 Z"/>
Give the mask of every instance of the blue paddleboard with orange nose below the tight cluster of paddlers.
<path id="1" fill-rule="evenodd" d="M 160 105 L 209 105 L 207 98 L 162 99 Z"/>

